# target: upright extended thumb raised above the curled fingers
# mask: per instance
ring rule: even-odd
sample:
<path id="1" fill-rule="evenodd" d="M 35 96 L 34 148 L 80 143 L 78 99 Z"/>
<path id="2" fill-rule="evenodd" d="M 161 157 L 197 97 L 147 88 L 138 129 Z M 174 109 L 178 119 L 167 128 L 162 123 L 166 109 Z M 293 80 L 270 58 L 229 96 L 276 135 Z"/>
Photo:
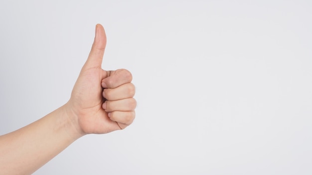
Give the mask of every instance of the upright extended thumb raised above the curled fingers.
<path id="1" fill-rule="evenodd" d="M 104 27 L 101 24 L 97 24 L 93 45 L 83 69 L 101 68 L 105 47 L 106 34 Z"/>

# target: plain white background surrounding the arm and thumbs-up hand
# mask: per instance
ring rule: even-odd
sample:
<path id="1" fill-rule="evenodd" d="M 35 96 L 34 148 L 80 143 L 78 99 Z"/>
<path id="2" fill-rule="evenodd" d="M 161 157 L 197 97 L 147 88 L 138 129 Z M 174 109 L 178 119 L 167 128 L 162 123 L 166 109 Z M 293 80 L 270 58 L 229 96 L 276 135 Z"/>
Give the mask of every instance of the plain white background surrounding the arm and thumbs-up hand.
<path id="1" fill-rule="evenodd" d="M 0 135 L 67 102 L 107 33 L 137 116 L 34 175 L 311 175 L 310 0 L 1 0 Z"/>

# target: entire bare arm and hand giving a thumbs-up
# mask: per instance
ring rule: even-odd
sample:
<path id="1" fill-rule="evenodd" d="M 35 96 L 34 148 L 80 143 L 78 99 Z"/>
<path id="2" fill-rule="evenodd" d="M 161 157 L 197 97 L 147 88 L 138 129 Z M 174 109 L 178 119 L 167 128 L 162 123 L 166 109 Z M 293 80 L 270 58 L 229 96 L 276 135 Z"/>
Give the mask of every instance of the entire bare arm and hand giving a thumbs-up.
<path id="1" fill-rule="evenodd" d="M 105 134 L 129 126 L 135 118 L 132 75 L 101 68 L 106 46 L 102 25 L 69 101 L 41 119 L 0 136 L 0 175 L 30 175 L 87 134 Z"/>

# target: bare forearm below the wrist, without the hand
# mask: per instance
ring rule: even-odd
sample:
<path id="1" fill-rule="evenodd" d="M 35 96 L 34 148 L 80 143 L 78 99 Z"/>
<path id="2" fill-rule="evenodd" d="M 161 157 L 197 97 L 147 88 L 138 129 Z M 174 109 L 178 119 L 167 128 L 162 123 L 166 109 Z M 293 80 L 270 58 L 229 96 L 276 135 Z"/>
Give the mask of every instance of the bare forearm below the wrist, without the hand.
<path id="1" fill-rule="evenodd" d="M 28 175 L 79 138 L 64 106 L 0 136 L 0 175 Z"/>

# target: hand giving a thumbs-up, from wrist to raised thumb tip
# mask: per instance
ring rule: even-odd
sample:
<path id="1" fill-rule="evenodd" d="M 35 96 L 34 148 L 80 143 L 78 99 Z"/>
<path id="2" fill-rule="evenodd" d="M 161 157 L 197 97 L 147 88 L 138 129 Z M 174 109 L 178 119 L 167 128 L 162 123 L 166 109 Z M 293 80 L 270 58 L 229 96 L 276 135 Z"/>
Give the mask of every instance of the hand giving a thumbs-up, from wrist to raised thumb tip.
<path id="1" fill-rule="evenodd" d="M 97 24 L 89 57 L 65 104 L 68 116 L 81 136 L 124 129 L 135 118 L 132 75 L 125 69 L 105 71 L 101 68 L 105 46 L 104 28 Z"/>

